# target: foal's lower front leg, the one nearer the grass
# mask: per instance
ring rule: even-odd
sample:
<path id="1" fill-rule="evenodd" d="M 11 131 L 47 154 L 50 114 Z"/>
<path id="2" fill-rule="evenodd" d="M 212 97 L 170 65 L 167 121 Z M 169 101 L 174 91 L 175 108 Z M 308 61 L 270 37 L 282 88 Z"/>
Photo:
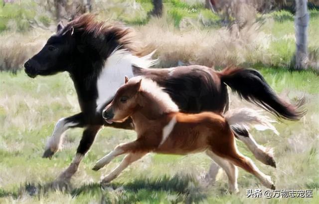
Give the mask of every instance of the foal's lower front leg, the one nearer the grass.
<path id="1" fill-rule="evenodd" d="M 117 178 L 120 175 L 120 173 L 123 170 L 125 170 L 130 164 L 141 159 L 146 154 L 147 154 L 146 152 L 136 152 L 136 153 L 130 153 L 127 156 L 125 156 L 121 164 L 117 166 L 110 174 L 108 174 L 102 180 L 102 184 L 110 183 L 113 179 Z"/>

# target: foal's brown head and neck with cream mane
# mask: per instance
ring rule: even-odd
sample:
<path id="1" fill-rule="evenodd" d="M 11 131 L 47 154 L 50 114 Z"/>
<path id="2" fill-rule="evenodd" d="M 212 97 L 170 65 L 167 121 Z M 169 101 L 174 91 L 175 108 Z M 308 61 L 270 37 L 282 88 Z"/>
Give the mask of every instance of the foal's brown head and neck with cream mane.
<path id="1" fill-rule="evenodd" d="M 113 101 L 103 110 L 106 122 L 123 122 L 135 111 L 141 110 L 152 116 L 177 112 L 177 105 L 156 82 L 141 76 L 130 80 L 119 88 Z"/>

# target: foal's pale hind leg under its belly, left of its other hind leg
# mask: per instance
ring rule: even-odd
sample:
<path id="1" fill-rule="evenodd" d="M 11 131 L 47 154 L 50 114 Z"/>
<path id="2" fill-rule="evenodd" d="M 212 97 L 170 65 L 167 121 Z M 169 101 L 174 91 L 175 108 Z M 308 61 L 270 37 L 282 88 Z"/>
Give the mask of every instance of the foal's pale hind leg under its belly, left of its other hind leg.
<path id="1" fill-rule="evenodd" d="M 212 151 L 207 150 L 206 154 L 214 160 L 227 174 L 228 177 L 228 188 L 231 193 L 238 192 L 238 184 L 237 184 L 237 177 L 238 177 L 238 169 L 235 165 L 223 159 L 222 157 L 217 156 Z"/>

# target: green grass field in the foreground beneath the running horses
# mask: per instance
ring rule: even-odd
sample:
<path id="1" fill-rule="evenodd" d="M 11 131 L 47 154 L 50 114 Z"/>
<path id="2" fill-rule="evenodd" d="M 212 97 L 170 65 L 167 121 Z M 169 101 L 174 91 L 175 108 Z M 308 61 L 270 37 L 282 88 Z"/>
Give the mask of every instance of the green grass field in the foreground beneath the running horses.
<path id="1" fill-rule="evenodd" d="M 229 195 L 227 178 L 220 172 L 217 182 L 206 187 L 202 177 L 210 160 L 204 154 L 167 156 L 150 154 L 134 163 L 109 188 L 99 181 L 119 162 L 116 159 L 100 172 L 91 168 L 117 144 L 134 140 L 134 131 L 104 128 L 78 173 L 65 191 L 54 191 L 50 183 L 71 162 L 81 138 L 81 129 L 67 132 L 64 148 L 52 160 L 42 159 L 43 147 L 55 122 L 79 110 L 73 85 L 65 73 L 28 78 L 0 73 L 0 203 L 312 203 L 319 202 L 319 85 L 312 72 L 288 72 L 261 68 L 282 97 L 294 101 L 307 97 L 308 114 L 300 122 L 276 124 L 280 136 L 252 131 L 256 140 L 275 148 L 277 169 L 256 161 L 271 175 L 277 189 L 312 189 L 313 199 L 248 199 L 246 189 L 263 189 L 253 176 L 240 170 L 237 195 Z M 248 106 L 232 95 L 232 106 Z M 251 106 L 251 105 L 249 105 Z M 240 151 L 254 159 L 238 142 Z"/>

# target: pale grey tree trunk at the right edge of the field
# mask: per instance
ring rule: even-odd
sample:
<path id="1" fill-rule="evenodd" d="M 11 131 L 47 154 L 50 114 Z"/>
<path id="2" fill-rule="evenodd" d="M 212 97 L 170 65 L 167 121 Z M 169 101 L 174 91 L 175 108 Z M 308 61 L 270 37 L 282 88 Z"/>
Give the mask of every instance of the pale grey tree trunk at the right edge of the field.
<path id="1" fill-rule="evenodd" d="M 296 32 L 296 53 L 295 69 L 307 68 L 307 27 L 309 24 L 309 13 L 307 0 L 296 0 L 295 32 Z"/>

